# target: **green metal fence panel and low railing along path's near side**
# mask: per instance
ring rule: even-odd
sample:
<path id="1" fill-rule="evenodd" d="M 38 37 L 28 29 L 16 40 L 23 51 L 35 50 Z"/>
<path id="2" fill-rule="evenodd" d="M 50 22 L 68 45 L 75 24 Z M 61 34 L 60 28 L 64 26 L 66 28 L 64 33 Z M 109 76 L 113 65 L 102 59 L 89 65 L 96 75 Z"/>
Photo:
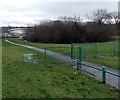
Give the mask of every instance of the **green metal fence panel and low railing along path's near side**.
<path id="1" fill-rule="evenodd" d="M 71 52 L 73 50 L 73 52 Z M 102 71 L 102 82 L 106 83 L 106 73 L 120 77 L 120 74 L 116 74 L 106 70 L 105 67 L 99 68 L 96 66 L 88 65 L 82 62 L 82 48 L 81 47 L 46 47 L 45 48 L 45 66 L 65 65 L 70 64 L 76 66 L 77 70 L 81 69 L 81 66 L 87 66 L 93 69 Z M 72 55 L 72 56 L 71 56 Z M 71 58 L 73 57 L 73 58 Z"/>

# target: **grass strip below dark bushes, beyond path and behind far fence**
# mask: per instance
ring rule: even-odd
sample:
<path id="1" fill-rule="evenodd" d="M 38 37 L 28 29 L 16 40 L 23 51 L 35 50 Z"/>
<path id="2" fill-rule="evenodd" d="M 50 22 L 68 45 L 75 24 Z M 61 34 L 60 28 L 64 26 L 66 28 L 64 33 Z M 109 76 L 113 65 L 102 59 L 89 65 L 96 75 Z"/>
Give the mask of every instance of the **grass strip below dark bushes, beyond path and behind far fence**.
<path id="1" fill-rule="evenodd" d="M 13 42 L 24 44 L 24 41 L 22 39 L 9 39 Z M 115 52 L 118 52 L 118 42 L 116 41 L 113 43 L 80 43 L 80 44 L 73 44 L 73 47 L 82 47 L 83 56 L 96 56 L 97 54 L 110 54 L 113 53 L 113 48 L 115 49 Z M 58 53 L 64 53 L 66 50 L 68 52 L 68 56 L 70 55 L 70 48 L 66 49 L 65 47 L 71 47 L 71 44 L 42 44 L 42 43 L 33 43 L 33 42 L 27 42 L 26 45 L 35 46 L 38 48 L 45 48 L 45 47 L 64 47 L 64 49 L 60 48 L 54 48 L 51 49 L 54 52 Z M 114 47 L 113 47 L 114 46 Z M 97 50 L 96 50 L 97 48 Z M 56 50 L 55 50 L 56 49 Z"/>

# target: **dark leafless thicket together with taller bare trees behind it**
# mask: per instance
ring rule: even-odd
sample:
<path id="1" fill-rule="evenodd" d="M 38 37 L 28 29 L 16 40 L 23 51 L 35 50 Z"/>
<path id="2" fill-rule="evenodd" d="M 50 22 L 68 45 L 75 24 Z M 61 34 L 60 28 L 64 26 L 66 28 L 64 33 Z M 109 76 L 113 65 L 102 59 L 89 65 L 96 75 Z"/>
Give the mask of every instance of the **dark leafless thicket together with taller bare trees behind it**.
<path id="1" fill-rule="evenodd" d="M 89 16 L 88 16 L 89 17 Z M 93 12 L 93 21 L 83 23 L 80 16 L 59 17 L 27 28 L 26 39 L 42 43 L 83 43 L 110 41 L 119 33 L 119 16 L 106 9 Z M 114 23 L 113 23 L 114 20 Z"/>

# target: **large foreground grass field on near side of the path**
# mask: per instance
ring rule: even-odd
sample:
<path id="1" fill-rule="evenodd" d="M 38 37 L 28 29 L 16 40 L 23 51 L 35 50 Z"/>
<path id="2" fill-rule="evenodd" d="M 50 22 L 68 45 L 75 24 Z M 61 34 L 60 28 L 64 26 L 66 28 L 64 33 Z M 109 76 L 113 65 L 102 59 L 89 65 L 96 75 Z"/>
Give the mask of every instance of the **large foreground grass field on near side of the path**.
<path id="1" fill-rule="evenodd" d="M 44 66 L 44 55 L 3 42 L 3 98 L 118 98 L 119 89 L 69 66 Z M 22 63 L 22 54 L 39 54 L 39 63 Z"/>

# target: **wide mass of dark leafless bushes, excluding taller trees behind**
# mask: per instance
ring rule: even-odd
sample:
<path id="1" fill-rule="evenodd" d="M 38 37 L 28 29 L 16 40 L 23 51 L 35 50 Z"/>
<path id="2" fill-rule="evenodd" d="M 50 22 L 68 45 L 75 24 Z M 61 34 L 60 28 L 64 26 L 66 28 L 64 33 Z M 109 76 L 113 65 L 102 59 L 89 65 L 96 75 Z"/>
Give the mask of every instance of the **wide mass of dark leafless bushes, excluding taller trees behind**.
<path id="1" fill-rule="evenodd" d="M 113 33 L 107 24 L 51 21 L 26 30 L 28 41 L 43 43 L 79 43 L 109 41 Z"/>

